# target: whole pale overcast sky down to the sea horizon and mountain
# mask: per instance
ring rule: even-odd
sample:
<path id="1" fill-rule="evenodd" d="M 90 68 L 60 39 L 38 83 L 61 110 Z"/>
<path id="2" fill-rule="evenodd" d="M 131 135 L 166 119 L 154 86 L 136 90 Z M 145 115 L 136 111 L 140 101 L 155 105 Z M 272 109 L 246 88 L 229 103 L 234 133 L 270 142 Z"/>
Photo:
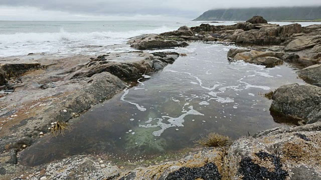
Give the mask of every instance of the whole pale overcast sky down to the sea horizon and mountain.
<path id="1" fill-rule="evenodd" d="M 321 0 L 0 0 L 0 20 L 191 20 L 215 8 L 321 5 Z"/>

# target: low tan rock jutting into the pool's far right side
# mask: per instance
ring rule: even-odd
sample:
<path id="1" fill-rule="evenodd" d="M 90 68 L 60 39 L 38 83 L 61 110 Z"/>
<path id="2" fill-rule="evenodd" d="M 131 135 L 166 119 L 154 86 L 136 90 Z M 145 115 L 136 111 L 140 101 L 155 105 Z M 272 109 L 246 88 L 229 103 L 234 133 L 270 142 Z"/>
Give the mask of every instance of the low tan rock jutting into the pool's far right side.
<path id="1" fill-rule="evenodd" d="M 257 51 L 248 49 L 230 49 L 227 53 L 228 58 L 235 60 L 244 60 L 245 62 L 260 65 L 275 66 L 283 64 L 280 59 L 284 53 L 272 51 Z"/>

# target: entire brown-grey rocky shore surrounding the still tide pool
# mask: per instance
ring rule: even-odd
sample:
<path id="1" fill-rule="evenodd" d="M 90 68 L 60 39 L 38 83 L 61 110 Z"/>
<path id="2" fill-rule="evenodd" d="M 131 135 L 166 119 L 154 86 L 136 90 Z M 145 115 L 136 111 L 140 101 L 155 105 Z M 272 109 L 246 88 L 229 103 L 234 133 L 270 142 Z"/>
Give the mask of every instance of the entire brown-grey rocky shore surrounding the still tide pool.
<path id="1" fill-rule="evenodd" d="M 176 52 L 132 51 L 66 58 L 30 54 L 0 58 L 1 179 L 321 179 L 321 25 L 268 24 L 255 16 L 234 25 L 201 24 L 128 40 L 138 50 L 188 46 L 190 41 L 235 43 L 229 61 L 272 67 L 307 66 L 297 74 L 306 85 L 287 84 L 273 92 L 271 111 L 301 126 L 278 127 L 205 148 L 179 161 L 124 171 L 90 155 L 76 155 L 27 167 L 19 153 L 44 135 L 52 122 L 68 122 L 111 98 L 145 73 L 163 69 Z"/>

